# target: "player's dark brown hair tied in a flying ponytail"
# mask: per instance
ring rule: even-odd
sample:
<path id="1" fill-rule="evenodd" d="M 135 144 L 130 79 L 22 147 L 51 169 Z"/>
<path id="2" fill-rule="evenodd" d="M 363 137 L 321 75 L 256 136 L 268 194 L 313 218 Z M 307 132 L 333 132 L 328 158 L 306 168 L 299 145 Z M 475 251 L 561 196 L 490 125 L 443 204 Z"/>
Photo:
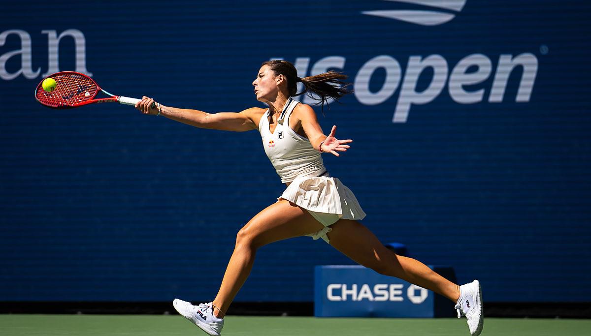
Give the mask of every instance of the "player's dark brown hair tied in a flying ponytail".
<path id="1" fill-rule="evenodd" d="M 329 98 L 339 100 L 345 94 L 353 93 L 348 87 L 350 83 L 345 83 L 347 75 L 333 70 L 325 73 L 317 74 L 300 78 L 297 76 L 296 67 L 288 61 L 272 60 L 262 63 L 263 66 L 269 66 L 276 75 L 282 74 L 287 79 L 287 92 L 290 97 L 300 96 L 306 93 L 307 96 L 314 100 L 318 100 L 315 105 L 328 103 Z M 304 90 L 297 93 L 297 83 L 304 84 Z M 313 96 L 315 93 L 317 96 Z"/>

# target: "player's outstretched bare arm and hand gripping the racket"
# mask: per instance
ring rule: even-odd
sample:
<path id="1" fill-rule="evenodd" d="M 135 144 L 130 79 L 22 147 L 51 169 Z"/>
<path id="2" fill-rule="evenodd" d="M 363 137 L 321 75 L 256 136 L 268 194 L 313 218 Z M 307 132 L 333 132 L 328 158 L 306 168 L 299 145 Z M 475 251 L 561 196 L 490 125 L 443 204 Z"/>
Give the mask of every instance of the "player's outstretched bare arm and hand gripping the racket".
<path id="1" fill-rule="evenodd" d="M 140 102 L 135 105 L 135 108 L 146 115 L 160 115 L 168 119 L 173 119 L 178 122 L 186 123 L 187 125 L 207 128 L 219 129 L 221 131 L 245 132 L 258 128 L 258 123 L 254 122 L 255 112 L 260 110 L 258 107 L 243 110 L 242 112 L 219 112 L 207 113 L 200 110 L 191 109 L 177 109 L 170 106 L 156 106 L 152 108 L 154 99 L 144 96 Z M 160 110 L 158 110 L 160 107 Z"/>

